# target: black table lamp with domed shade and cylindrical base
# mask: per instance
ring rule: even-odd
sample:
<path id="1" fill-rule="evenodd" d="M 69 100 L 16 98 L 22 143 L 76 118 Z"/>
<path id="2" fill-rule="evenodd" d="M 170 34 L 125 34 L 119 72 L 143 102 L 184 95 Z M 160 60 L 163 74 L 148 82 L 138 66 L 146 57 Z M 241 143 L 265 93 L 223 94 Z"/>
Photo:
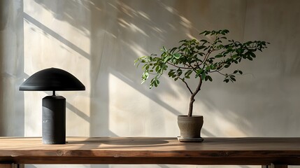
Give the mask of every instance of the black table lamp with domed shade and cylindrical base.
<path id="1" fill-rule="evenodd" d="M 43 69 L 34 73 L 20 85 L 23 91 L 52 91 L 52 96 L 43 98 L 43 144 L 66 143 L 66 99 L 56 96 L 55 91 L 85 90 L 71 73 L 62 69 Z"/>

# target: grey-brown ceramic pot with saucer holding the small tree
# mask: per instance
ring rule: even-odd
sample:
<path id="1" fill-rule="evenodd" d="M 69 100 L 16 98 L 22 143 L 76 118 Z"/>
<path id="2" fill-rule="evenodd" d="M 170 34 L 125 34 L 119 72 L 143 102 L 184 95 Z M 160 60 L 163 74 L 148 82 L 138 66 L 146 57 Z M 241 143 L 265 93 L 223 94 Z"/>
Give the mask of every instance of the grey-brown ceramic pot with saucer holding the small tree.
<path id="1" fill-rule="evenodd" d="M 180 130 L 179 141 L 203 141 L 201 128 L 203 116 L 178 116 L 178 127 Z"/>

